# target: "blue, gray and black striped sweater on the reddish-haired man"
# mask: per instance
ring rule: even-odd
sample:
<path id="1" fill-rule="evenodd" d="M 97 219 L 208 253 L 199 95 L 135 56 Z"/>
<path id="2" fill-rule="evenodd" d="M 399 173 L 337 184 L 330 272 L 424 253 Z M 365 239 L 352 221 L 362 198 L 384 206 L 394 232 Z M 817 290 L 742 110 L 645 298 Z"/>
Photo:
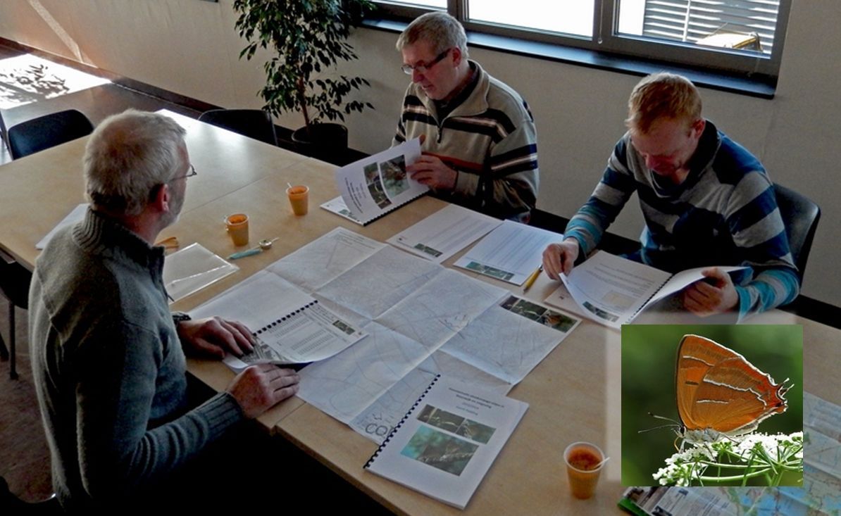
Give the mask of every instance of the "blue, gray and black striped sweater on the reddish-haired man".
<path id="1" fill-rule="evenodd" d="M 707 121 L 688 165 L 684 182 L 664 184 L 625 134 L 566 236 L 588 255 L 637 192 L 646 224 L 640 236 L 643 263 L 670 272 L 749 266 L 734 280 L 739 321 L 794 300 L 800 279 L 773 185 L 759 160 Z"/>

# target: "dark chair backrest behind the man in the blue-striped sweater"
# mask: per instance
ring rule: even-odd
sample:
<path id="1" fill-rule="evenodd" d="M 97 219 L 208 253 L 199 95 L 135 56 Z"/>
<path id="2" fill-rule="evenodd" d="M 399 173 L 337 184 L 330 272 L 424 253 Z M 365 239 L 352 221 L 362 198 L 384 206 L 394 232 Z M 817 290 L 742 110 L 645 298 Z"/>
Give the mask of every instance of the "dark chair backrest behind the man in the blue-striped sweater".
<path id="1" fill-rule="evenodd" d="M 782 185 L 774 185 L 777 206 L 785 224 L 785 236 L 789 240 L 791 257 L 800 271 L 801 282 L 806 272 L 809 251 L 815 238 L 817 221 L 821 219 L 821 208 L 808 197 Z"/>

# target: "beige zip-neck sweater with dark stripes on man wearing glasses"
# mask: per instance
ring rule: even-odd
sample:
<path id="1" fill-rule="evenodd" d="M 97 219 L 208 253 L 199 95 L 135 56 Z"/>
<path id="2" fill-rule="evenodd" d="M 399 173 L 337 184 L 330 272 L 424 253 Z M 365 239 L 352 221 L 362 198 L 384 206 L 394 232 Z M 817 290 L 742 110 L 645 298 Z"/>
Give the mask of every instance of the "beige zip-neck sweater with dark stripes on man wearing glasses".
<path id="1" fill-rule="evenodd" d="M 501 219 L 528 221 L 537 201 L 537 133 L 526 102 L 475 61 L 478 78 L 463 103 L 439 119 L 421 87 L 410 84 L 392 145 L 426 134 L 422 150 L 458 171 L 448 201 Z"/>

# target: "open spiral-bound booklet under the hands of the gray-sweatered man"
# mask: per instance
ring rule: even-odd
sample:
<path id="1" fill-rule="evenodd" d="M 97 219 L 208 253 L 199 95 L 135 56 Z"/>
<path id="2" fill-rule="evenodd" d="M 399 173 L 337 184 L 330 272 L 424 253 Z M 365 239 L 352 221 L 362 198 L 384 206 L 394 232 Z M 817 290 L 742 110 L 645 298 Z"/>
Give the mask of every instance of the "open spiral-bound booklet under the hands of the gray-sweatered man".
<path id="1" fill-rule="evenodd" d="M 235 371 L 251 364 L 301 364 L 336 355 L 366 334 L 271 271 L 260 271 L 190 313 L 224 316 L 251 329 L 253 353 L 225 357 Z"/>

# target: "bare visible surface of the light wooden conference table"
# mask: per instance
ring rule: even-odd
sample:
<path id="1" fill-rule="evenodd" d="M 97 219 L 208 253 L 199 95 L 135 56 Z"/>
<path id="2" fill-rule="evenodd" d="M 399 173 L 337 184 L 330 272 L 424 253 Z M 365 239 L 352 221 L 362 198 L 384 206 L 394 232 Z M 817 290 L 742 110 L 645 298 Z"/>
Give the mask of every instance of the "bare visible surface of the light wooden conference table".
<path id="1" fill-rule="evenodd" d="M 182 246 L 199 242 L 217 255 L 230 255 L 235 248 L 222 219 L 235 212 L 249 214 L 252 242 L 280 237 L 272 250 L 237 261 L 240 271 L 175 303 L 174 309 L 187 310 L 204 303 L 336 226 L 386 240 L 444 206 L 442 201 L 423 197 L 363 228 L 319 208 L 337 195 L 331 174 L 334 166 L 189 118 L 173 118 L 188 128 L 188 149 L 198 176 L 188 180 L 181 219 L 161 238 L 177 236 Z M 77 140 L 0 166 L 0 215 L 6 221 L 0 227 L 0 245 L 25 266 L 34 264 L 35 242 L 83 202 L 80 163 L 84 143 Z M 285 196 L 287 182 L 310 187 L 309 214 L 292 214 Z M 541 301 L 554 287 L 542 276 L 527 297 Z M 780 311 L 762 314 L 751 323 L 802 324 L 804 387 L 841 403 L 841 380 L 834 371 L 841 332 Z M 622 492 L 620 359 L 619 332 L 584 321 L 514 387 L 510 396 L 526 401 L 530 408 L 464 511 L 363 471 L 362 465 L 377 446 L 299 398 L 280 403 L 260 421 L 398 513 L 620 513 L 616 508 Z M 233 377 L 217 361 L 191 360 L 188 368 L 215 389 L 224 388 Z M 608 462 L 598 492 L 590 500 L 569 495 L 561 454 L 575 440 L 593 441 L 602 445 L 607 455 L 616 457 Z"/>

